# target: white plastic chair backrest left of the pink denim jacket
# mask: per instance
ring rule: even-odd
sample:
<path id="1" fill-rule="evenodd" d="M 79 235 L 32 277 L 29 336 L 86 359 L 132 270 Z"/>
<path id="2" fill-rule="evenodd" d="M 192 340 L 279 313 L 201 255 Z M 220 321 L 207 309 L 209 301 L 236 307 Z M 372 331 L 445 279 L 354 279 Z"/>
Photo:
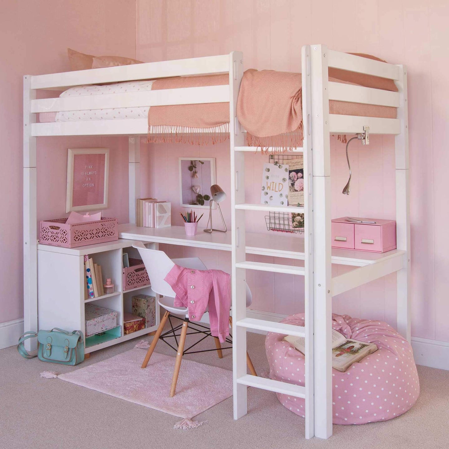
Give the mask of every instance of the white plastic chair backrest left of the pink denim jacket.
<path id="1" fill-rule="evenodd" d="M 154 293 L 159 295 L 169 296 L 174 298 L 176 296 L 172 287 L 164 281 L 164 277 L 174 267 L 174 262 L 163 251 L 151 250 L 140 245 L 133 245 L 139 250 L 139 254 L 145 264 L 148 277 L 150 277 L 151 289 Z"/>

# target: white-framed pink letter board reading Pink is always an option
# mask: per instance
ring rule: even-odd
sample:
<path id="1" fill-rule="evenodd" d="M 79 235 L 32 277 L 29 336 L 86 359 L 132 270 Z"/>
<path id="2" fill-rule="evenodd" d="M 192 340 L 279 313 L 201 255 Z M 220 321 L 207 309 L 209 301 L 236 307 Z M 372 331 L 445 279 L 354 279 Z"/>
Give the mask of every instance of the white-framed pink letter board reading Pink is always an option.
<path id="1" fill-rule="evenodd" d="M 66 212 L 108 207 L 109 148 L 69 148 Z"/>

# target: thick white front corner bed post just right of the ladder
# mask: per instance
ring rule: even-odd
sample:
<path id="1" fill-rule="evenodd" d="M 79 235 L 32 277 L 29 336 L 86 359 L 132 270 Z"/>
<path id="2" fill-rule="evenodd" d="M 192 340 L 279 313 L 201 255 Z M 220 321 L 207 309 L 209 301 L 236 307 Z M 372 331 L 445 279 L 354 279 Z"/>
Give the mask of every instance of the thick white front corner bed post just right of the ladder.
<path id="1" fill-rule="evenodd" d="M 332 296 L 330 253 L 330 136 L 325 45 L 310 46 L 313 146 L 313 304 L 315 436 L 332 435 Z"/>

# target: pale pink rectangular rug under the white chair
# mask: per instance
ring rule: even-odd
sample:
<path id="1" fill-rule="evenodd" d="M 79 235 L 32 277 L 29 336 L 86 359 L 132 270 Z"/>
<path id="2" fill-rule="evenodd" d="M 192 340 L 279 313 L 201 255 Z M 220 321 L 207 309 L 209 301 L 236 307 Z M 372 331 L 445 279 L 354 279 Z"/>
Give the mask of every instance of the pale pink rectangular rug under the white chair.
<path id="1" fill-rule="evenodd" d="M 176 394 L 169 397 L 175 357 L 153 352 L 142 370 L 145 352 L 134 348 L 58 379 L 189 419 L 232 396 L 232 371 L 183 359 Z"/>

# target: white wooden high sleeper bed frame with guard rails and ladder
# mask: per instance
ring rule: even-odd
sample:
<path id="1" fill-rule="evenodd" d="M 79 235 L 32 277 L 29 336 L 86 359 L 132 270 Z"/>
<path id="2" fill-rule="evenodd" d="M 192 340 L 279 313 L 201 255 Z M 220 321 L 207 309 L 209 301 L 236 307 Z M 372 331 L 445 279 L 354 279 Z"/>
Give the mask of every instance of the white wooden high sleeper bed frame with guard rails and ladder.
<path id="1" fill-rule="evenodd" d="M 393 79 L 399 92 L 389 92 L 328 81 L 328 67 Z M 236 105 L 243 75 L 243 54 L 152 62 L 133 66 L 83 70 L 52 75 L 24 76 L 23 184 L 24 184 L 24 326 L 37 330 L 37 216 L 36 137 L 38 136 L 129 136 L 129 220 L 135 222 L 136 198 L 140 194 L 140 135 L 147 133 L 146 119 L 98 122 L 35 123 L 39 112 L 100 109 L 126 106 L 158 106 L 228 102 L 230 108 L 230 158 L 232 206 L 233 401 L 234 419 L 247 413 L 247 386 L 305 398 L 305 436 L 328 438 L 332 434 L 331 298 L 344 291 L 397 273 L 397 328 L 410 340 L 410 222 L 409 150 L 407 122 L 407 74 L 405 66 L 378 62 L 329 50 L 324 45 L 302 48 L 304 145 L 304 207 L 288 211 L 305 213 L 304 251 L 290 258 L 304 260 L 304 268 L 246 261 L 246 211 L 286 211 L 282 207 L 245 203 L 244 132 Z M 62 90 L 81 85 L 153 79 L 180 75 L 229 73 L 229 86 L 212 86 L 119 93 L 88 97 L 36 100 L 39 89 Z M 397 119 L 329 114 L 329 100 L 397 107 Z M 330 133 L 395 135 L 397 249 L 373 256 L 331 250 L 330 237 Z M 294 237 L 292 237 L 294 238 Z M 251 248 L 252 253 L 264 254 Z M 352 254 L 352 255 L 351 255 Z M 364 255 L 365 254 L 365 255 Z M 356 268 L 331 276 L 332 263 Z M 246 269 L 291 273 L 305 278 L 305 326 L 247 317 L 244 280 Z M 246 332 L 272 331 L 306 338 L 305 387 L 247 374 Z M 314 370 L 317 366 L 319 369 Z"/>

